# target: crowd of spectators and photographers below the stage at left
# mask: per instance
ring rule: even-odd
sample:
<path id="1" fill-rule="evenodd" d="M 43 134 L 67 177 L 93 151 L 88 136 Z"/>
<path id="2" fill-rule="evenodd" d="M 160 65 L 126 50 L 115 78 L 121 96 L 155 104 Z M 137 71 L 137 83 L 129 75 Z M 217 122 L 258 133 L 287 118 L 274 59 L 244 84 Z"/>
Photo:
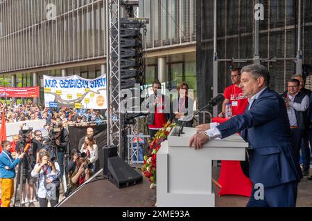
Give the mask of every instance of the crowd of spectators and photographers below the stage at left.
<path id="1" fill-rule="evenodd" d="M 60 189 L 61 184 L 64 185 L 64 180 L 67 180 L 68 186 L 67 193 L 64 193 L 64 186 L 62 186 L 62 197 L 69 195 L 96 171 L 98 147 L 91 126 L 104 123 L 104 118 L 99 111 L 72 108 L 55 110 L 40 108 L 32 103 L 3 105 L 2 108 L 2 111 L 6 111 L 8 123 L 46 119 L 44 128 L 35 131 L 23 125 L 19 134 L 12 137 L 12 142 L 4 141 L 0 148 L 0 153 L 3 153 L 0 157 L 2 196 L 0 203 L 3 207 L 12 204 L 14 182 L 19 184 L 20 179 L 16 176 L 18 169 L 15 166 L 20 161 L 23 162 L 21 205 L 31 205 L 38 201 L 41 207 L 46 207 L 48 202 L 51 206 L 55 206 L 60 200 Z M 80 138 L 78 146 L 71 151 L 69 163 L 65 158 L 69 144 L 67 124 L 90 126 L 87 128 L 86 135 Z M 27 150 L 25 150 L 26 144 L 29 144 Z"/>

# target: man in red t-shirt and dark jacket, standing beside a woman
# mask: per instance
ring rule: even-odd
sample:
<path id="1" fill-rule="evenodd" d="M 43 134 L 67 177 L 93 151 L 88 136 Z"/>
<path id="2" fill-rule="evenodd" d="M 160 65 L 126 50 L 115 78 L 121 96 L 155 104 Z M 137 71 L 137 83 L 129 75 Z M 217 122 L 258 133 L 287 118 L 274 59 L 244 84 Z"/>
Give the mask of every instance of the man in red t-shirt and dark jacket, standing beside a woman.
<path id="1" fill-rule="evenodd" d="M 151 95 L 148 101 L 148 108 L 153 110 L 154 107 L 154 111 L 150 111 L 148 114 L 148 121 L 146 122 L 146 124 L 148 124 L 150 139 L 155 136 L 157 131 L 164 127 L 164 124 L 166 124 L 170 117 L 170 111 L 166 110 L 168 100 L 165 100 L 166 97 L 164 95 L 157 95 L 157 91 L 160 93 L 161 89 L 162 84 L 160 84 L 158 80 L 155 80 L 153 82 L 154 95 Z"/>

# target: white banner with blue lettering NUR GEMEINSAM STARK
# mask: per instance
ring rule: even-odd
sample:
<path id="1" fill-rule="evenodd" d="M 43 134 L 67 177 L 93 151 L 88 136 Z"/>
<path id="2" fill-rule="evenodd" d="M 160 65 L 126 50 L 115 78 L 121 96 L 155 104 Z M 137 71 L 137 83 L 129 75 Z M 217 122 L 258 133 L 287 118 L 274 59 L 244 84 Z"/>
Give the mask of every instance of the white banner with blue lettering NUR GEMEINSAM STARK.
<path id="1" fill-rule="evenodd" d="M 44 75 L 44 102 L 51 108 L 107 109 L 106 77 L 85 79 L 77 75 Z"/>

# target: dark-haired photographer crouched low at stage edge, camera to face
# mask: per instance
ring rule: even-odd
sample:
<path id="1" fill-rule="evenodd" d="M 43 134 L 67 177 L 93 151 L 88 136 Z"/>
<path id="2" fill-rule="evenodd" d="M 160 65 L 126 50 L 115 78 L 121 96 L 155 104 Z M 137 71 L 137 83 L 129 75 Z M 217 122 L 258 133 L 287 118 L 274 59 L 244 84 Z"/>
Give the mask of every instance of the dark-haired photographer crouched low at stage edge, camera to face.
<path id="1" fill-rule="evenodd" d="M 78 171 L 73 172 L 71 176 L 71 186 L 73 187 L 72 191 L 78 186 L 89 180 L 93 175 L 92 170 L 89 169 L 92 167 L 92 164 L 84 157 L 80 157 L 78 160 Z"/>

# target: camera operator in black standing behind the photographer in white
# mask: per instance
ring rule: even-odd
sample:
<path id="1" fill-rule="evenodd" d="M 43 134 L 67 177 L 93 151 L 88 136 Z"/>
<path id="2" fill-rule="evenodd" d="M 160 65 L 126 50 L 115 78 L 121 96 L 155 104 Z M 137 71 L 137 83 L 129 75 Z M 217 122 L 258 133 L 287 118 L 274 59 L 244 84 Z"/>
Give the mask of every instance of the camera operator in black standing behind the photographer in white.
<path id="1" fill-rule="evenodd" d="M 51 139 L 52 148 L 56 148 L 58 163 L 60 164 L 60 177 L 64 174 L 64 155 L 67 151 L 67 144 L 69 142 L 68 131 L 64 128 L 62 122 L 53 123 L 49 138 Z M 54 152 L 54 153 L 55 153 Z"/>

